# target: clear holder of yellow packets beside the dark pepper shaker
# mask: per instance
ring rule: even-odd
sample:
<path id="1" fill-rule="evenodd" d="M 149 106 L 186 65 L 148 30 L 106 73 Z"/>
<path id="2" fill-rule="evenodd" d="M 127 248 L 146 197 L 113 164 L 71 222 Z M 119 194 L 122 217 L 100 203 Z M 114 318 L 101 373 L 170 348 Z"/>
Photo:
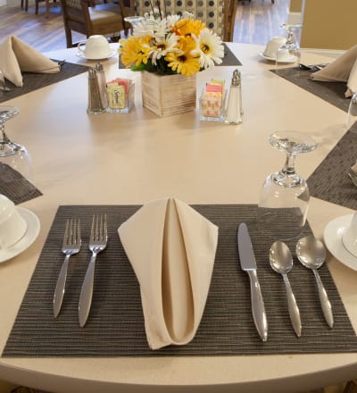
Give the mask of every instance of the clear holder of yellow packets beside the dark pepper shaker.
<path id="1" fill-rule="evenodd" d="M 135 101 L 135 83 L 130 82 L 128 92 L 125 86 L 116 83 L 107 85 L 109 113 L 129 113 Z"/>

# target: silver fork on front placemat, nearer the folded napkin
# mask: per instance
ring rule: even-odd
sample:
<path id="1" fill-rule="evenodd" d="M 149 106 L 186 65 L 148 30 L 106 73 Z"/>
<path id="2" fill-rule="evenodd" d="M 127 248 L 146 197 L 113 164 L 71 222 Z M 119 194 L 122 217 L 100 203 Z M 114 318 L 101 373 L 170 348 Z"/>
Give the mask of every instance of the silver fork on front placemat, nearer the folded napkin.
<path id="1" fill-rule="evenodd" d="M 96 255 L 106 247 L 107 238 L 106 214 L 95 214 L 92 220 L 92 229 L 89 239 L 89 249 L 92 251 L 92 256 L 89 261 L 79 297 L 79 326 L 81 328 L 87 322 L 90 305 L 92 304 Z"/>

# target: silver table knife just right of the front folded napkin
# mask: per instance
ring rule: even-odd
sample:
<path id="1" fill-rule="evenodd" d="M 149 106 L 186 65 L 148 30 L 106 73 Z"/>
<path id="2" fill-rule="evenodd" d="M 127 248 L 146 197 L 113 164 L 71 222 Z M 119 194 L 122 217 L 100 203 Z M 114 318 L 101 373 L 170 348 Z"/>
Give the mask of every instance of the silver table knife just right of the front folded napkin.
<path id="1" fill-rule="evenodd" d="M 252 314 L 255 328 L 262 341 L 266 341 L 268 339 L 267 314 L 265 313 L 261 286 L 256 272 L 257 266 L 252 241 L 245 222 L 239 224 L 237 243 L 241 268 L 248 273 L 250 279 Z"/>

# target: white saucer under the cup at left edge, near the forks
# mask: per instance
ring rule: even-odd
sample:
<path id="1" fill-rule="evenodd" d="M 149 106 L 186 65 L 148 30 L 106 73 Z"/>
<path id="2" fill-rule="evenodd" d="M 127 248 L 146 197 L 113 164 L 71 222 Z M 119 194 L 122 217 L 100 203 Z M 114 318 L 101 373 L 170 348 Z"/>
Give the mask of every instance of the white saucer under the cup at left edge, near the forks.
<path id="1" fill-rule="evenodd" d="M 5 262 L 16 255 L 21 254 L 36 240 L 39 233 L 39 220 L 35 213 L 30 212 L 28 209 L 18 207 L 19 213 L 26 220 L 28 227 L 23 237 L 12 247 L 6 250 L 0 250 L 0 263 Z"/>

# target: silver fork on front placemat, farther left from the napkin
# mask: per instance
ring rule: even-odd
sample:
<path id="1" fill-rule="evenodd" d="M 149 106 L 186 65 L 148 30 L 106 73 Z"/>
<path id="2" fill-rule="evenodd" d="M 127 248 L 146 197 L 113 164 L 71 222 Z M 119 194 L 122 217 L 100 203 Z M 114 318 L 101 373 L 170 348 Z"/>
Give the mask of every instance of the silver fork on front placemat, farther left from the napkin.
<path id="1" fill-rule="evenodd" d="M 61 310 L 70 256 L 79 253 L 80 244 L 80 221 L 73 219 L 67 220 L 62 243 L 62 253 L 66 257 L 62 263 L 61 272 L 54 289 L 54 318 L 57 317 Z"/>

